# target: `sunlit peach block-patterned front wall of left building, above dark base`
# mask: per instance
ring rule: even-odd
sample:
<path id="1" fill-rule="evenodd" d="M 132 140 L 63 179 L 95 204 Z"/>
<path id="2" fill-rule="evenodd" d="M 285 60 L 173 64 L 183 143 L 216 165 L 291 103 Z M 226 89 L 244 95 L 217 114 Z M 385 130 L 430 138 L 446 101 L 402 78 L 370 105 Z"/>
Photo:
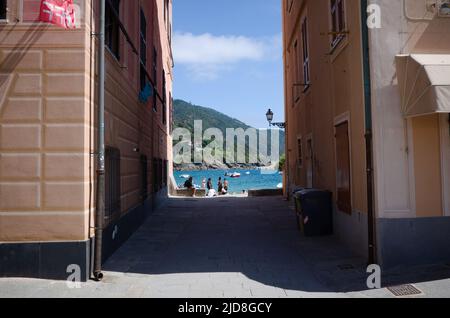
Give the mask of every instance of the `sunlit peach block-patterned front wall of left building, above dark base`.
<path id="1" fill-rule="evenodd" d="M 34 1 L 38 2 L 38 1 Z M 32 22 L 9 0 L 0 25 L 0 242 L 89 237 L 90 35 Z"/>

